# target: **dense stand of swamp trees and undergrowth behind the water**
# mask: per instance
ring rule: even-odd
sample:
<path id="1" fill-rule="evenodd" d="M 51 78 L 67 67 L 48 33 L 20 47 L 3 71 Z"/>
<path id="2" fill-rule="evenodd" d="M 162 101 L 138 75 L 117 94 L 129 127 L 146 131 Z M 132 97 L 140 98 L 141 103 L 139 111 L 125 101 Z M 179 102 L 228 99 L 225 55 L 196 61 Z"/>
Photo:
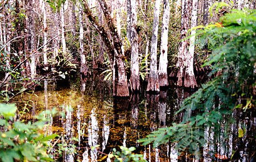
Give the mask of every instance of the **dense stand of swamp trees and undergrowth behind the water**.
<path id="1" fill-rule="evenodd" d="M 221 5 L 222 4 L 222 5 Z M 60 76 L 81 80 L 104 71 L 114 96 L 168 86 L 198 87 L 211 49 L 195 46 L 194 27 L 217 22 L 232 8 L 255 8 L 253 1 L 2 1 L 1 88 L 22 80 Z M 195 57 L 194 57 L 195 56 Z M 114 74 L 114 75 L 113 75 Z M 22 77 L 20 77 L 22 76 Z M 18 82 L 17 82 L 18 81 Z M 13 83 L 10 83 L 13 82 Z M 24 83 L 24 82 L 23 82 Z M 34 86 L 27 82 L 22 87 Z"/>

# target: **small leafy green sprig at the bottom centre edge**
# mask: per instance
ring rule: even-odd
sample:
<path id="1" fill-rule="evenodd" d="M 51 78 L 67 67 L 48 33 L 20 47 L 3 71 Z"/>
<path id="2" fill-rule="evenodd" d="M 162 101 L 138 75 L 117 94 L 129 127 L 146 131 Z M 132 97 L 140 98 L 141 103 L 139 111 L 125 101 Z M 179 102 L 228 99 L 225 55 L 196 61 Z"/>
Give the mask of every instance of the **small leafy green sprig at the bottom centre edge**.
<path id="1" fill-rule="evenodd" d="M 114 158 L 114 161 L 146 161 L 143 159 L 143 155 L 141 154 L 134 154 L 133 151 L 135 150 L 135 147 L 123 147 L 120 146 L 121 152 L 117 151 L 115 148 L 113 148 L 112 154 L 109 154 L 109 158 Z"/>

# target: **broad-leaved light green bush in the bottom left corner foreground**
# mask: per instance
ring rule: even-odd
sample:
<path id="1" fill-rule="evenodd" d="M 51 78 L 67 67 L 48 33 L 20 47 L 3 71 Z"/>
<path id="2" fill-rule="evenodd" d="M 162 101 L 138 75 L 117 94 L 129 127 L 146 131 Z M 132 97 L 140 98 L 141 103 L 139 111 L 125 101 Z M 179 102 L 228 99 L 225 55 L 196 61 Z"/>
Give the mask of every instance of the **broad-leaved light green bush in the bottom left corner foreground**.
<path id="1" fill-rule="evenodd" d="M 46 127 L 47 114 L 54 112 L 43 112 L 34 123 L 15 121 L 16 112 L 14 104 L 0 104 L 0 159 L 1 161 L 54 161 L 47 154 L 49 140 L 57 135 L 43 135 L 39 133 Z"/>

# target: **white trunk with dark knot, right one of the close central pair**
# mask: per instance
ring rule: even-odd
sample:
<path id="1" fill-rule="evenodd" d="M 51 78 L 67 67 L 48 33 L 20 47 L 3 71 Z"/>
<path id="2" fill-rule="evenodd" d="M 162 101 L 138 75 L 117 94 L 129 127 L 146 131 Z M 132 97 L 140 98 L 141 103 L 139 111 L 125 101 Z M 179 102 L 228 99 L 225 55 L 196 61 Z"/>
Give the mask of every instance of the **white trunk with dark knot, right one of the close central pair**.
<path id="1" fill-rule="evenodd" d="M 163 13 L 163 27 L 161 35 L 161 47 L 160 47 L 160 58 L 159 58 L 159 86 L 168 86 L 168 76 L 167 76 L 167 65 L 168 65 L 168 27 L 170 18 L 170 2 L 169 0 L 164 0 L 164 13 Z"/>

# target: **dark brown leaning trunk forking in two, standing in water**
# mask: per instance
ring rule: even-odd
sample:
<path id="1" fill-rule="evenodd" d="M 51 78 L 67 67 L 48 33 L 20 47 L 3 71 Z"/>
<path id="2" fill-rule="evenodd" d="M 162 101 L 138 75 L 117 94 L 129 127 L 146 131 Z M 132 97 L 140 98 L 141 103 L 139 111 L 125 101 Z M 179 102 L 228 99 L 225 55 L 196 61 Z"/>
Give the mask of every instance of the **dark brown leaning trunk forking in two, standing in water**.
<path id="1" fill-rule="evenodd" d="M 113 63 L 115 58 L 115 66 L 114 69 L 116 73 L 113 72 L 116 79 L 113 79 L 113 95 L 114 96 L 129 96 L 129 89 L 127 85 L 127 76 L 125 71 L 125 65 L 122 61 L 122 42 L 118 35 L 117 29 L 114 27 L 113 19 L 110 16 L 109 7 L 106 5 L 104 0 L 98 0 L 102 11 L 104 12 L 106 21 L 108 22 L 108 27 L 110 29 L 110 33 L 112 35 L 112 39 L 108 37 L 108 33 L 106 29 L 102 27 L 98 20 L 92 15 L 92 11 L 90 11 L 87 2 L 84 0 L 84 8 L 85 14 L 89 18 L 93 27 L 96 28 L 97 32 L 100 33 L 102 40 L 104 40 L 106 45 L 107 53 L 109 54 L 110 62 Z M 112 43 L 113 42 L 113 43 Z"/>

